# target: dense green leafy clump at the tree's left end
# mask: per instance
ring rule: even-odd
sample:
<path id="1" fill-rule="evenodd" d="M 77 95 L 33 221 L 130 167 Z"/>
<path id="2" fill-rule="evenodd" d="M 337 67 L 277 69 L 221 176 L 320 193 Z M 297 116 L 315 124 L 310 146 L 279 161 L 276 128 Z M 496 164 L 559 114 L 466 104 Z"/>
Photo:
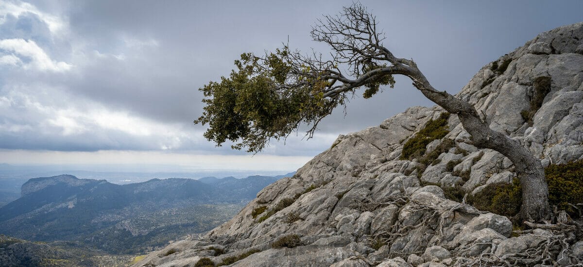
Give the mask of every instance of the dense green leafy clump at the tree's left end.
<path id="1" fill-rule="evenodd" d="M 244 53 L 229 78 L 199 89 L 205 107 L 194 122 L 209 125 L 205 138 L 217 146 L 230 140 L 238 142 L 233 149 L 259 152 L 269 139 L 285 138 L 302 123 L 315 125 L 343 104 L 343 99 L 325 99 L 328 82 L 289 56 L 287 47 L 264 58 Z"/>

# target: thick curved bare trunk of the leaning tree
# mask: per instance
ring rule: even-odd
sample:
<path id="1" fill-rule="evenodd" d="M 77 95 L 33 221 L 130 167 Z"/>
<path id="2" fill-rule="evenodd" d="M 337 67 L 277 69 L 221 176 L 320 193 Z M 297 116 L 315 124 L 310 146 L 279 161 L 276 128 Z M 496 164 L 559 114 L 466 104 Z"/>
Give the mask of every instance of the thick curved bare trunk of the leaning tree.
<path id="1" fill-rule="evenodd" d="M 472 145 L 496 150 L 514 163 L 522 188 L 522 206 L 520 212 L 514 218 L 515 222 L 523 222 L 524 220 L 542 222 L 549 220 L 551 215 L 549 189 L 546 184 L 545 170 L 540 164 L 540 160 L 536 159 L 530 150 L 522 146 L 517 140 L 490 129 L 489 123 L 480 118 L 472 104 L 457 99 L 447 92 L 440 92 L 434 89 L 419 69 L 409 73 L 408 76 L 412 78 L 413 85 L 424 96 L 449 113 L 458 115 L 463 128 L 471 136 Z"/>

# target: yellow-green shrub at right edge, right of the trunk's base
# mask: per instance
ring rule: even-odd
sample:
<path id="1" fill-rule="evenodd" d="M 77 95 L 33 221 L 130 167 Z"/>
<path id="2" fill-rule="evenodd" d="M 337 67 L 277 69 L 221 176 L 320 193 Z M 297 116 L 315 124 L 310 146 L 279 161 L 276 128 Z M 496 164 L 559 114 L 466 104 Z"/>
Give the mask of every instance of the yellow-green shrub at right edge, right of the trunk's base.
<path id="1" fill-rule="evenodd" d="M 571 217 L 578 216 L 573 206 L 583 203 L 583 160 L 545 168 L 549 185 L 549 204 L 565 210 Z"/>

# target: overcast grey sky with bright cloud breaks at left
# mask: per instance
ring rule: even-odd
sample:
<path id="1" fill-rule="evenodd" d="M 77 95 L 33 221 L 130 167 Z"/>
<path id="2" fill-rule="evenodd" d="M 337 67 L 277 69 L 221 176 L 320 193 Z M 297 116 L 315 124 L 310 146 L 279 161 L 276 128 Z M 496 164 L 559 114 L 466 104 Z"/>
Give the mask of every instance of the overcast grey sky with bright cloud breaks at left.
<path id="1" fill-rule="evenodd" d="M 0 163 L 176 164 L 295 170 L 338 134 L 429 101 L 397 79 L 356 97 L 313 139 L 303 132 L 255 156 L 215 147 L 192 121 L 198 88 L 241 52 L 283 41 L 326 52 L 311 25 L 351 1 L 0 0 Z M 434 87 L 458 92 L 478 69 L 536 34 L 583 20 L 583 1 L 362 1 Z"/>

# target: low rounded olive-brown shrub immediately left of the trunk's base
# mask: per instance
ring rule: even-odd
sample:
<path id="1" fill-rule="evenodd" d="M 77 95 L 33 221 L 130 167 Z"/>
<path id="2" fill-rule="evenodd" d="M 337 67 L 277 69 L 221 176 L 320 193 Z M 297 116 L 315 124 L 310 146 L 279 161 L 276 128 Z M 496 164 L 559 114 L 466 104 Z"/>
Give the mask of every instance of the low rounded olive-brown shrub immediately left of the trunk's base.
<path id="1" fill-rule="evenodd" d="M 512 217 L 517 215 L 522 204 L 520 181 L 515 178 L 512 184 L 497 182 L 487 185 L 475 195 L 468 195 L 468 203 L 479 210 Z"/>

